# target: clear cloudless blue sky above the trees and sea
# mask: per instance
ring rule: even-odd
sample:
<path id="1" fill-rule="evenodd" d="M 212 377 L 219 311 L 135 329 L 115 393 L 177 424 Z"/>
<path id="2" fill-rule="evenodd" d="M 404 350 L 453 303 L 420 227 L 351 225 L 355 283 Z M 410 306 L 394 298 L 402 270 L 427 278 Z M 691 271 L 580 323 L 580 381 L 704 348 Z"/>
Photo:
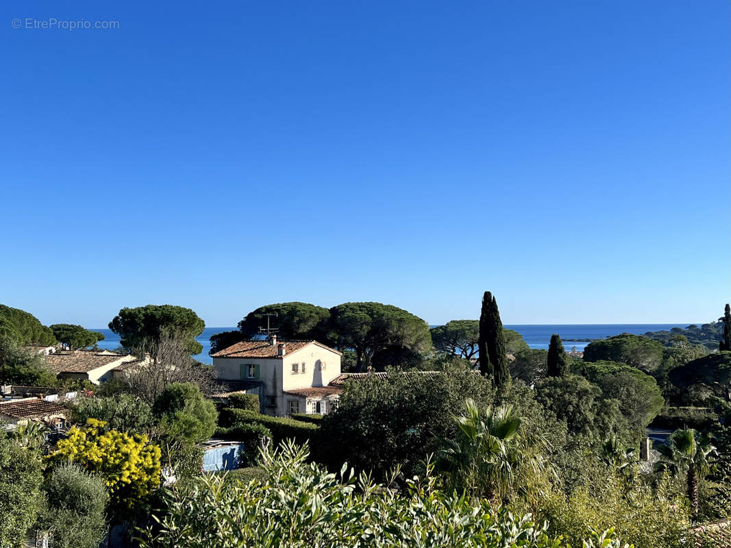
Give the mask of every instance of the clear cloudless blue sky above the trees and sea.
<path id="1" fill-rule="evenodd" d="M 436 324 L 486 289 L 508 324 L 708 321 L 731 300 L 727 1 L 0 11 L 0 302 L 46 324 L 289 300 Z M 26 28 L 49 18 L 119 28 Z"/>

